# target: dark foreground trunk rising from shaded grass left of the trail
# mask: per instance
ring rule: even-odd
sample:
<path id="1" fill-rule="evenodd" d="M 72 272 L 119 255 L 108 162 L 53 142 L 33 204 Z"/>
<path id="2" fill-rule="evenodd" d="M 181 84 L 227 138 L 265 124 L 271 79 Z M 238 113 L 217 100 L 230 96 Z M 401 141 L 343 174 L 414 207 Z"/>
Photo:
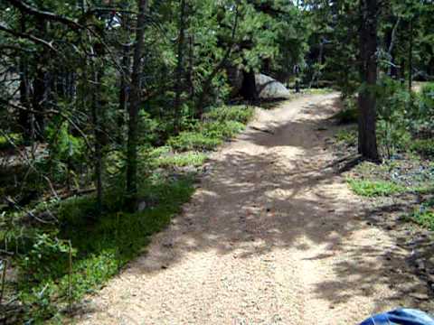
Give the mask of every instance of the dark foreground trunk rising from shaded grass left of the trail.
<path id="1" fill-rule="evenodd" d="M 138 17 L 136 27 L 136 46 L 134 49 L 133 71 L 131 78 L 131 95 L 128 109 L 127 142 L 127 205 L 130 210 L 137 210 L 137 125 L 140 106 L 142 56 L 146 24 L 147 0 L 138 0 Z"/>

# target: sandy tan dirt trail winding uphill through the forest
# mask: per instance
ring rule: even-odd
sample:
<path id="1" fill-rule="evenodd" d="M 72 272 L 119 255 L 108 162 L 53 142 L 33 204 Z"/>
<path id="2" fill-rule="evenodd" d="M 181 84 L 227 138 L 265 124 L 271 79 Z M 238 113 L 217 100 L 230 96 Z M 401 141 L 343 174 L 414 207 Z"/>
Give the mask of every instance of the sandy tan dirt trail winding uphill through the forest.
<path id="1" fill-rule="evenodd" d="M 329 167 L 336 94 L 298 98 L 213 154 L 212 172 L 83 324 L 356 324 L 402 302 L 392 238 Z"/>

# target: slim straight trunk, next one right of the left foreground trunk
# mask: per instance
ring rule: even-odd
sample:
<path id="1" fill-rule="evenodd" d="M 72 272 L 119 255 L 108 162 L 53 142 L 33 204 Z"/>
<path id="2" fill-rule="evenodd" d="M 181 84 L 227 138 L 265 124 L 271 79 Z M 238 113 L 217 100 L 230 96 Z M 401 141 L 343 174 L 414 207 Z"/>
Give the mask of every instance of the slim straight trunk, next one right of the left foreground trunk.
<path id="1" fill-rule="evenodd" d="M 181 93 L 183 79 L 183 64 L 184 64 L 184 39 L 185 39 L 185 0 L 181 0 L 181 11 L 179 15 L 179 37 L 178 37 L 178 55 L 176 63 L 176 78 L 175 78 L 175 119 L 174 131 L 175 135 L 179 133 L 180 116 L 181 116 Z"/>

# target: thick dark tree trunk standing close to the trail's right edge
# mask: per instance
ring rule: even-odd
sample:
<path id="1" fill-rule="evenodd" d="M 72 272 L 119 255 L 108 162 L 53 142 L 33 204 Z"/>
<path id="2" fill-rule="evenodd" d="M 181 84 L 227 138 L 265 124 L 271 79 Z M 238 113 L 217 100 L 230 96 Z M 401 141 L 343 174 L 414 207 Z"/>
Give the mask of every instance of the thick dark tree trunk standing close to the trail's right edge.
<path id="1" fill-rule="evenodd" d="M 361 0 L 360 60 L 363 87 L 359 92 L 359 153 L 379 159 L 376 137 L 377 0 Z"/>

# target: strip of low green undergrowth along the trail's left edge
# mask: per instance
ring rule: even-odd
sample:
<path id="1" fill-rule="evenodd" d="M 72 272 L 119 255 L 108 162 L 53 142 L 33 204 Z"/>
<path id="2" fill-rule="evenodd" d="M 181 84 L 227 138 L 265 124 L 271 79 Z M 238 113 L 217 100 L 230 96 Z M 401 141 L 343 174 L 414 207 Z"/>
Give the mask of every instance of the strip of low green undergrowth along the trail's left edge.
<path id="1" fill-rule="evenodd" d="M 208 153 L 240 133 L 253 112 L 245 106 L 212 108 L 202 121 L 191 123 L 165 145 L 143 146 L 140 212 L 125 211 L 123 185 L 115 178 L 114 187 L 105 190 L 101 216 L 93 194 L 27 207 L 41 218 L 49 213 L 57 220 L 54 223 L 35 222 L 23 210 L 2 215 L 0 228 L 8 230 L 0 231 L 0 248 L 16 253 L 13 265 L 18 277 L 11 285 L 23 321 L 61 322 L 71 305 L 98 291 L 143 252 L 151 235 L 165 228 L 190 199 L 195 171 Z M 109 155 L 109 173 L 122 171 L 122 156 L 120 152 Z M 173 173 L 184 167 L 192 169 Z"/>

